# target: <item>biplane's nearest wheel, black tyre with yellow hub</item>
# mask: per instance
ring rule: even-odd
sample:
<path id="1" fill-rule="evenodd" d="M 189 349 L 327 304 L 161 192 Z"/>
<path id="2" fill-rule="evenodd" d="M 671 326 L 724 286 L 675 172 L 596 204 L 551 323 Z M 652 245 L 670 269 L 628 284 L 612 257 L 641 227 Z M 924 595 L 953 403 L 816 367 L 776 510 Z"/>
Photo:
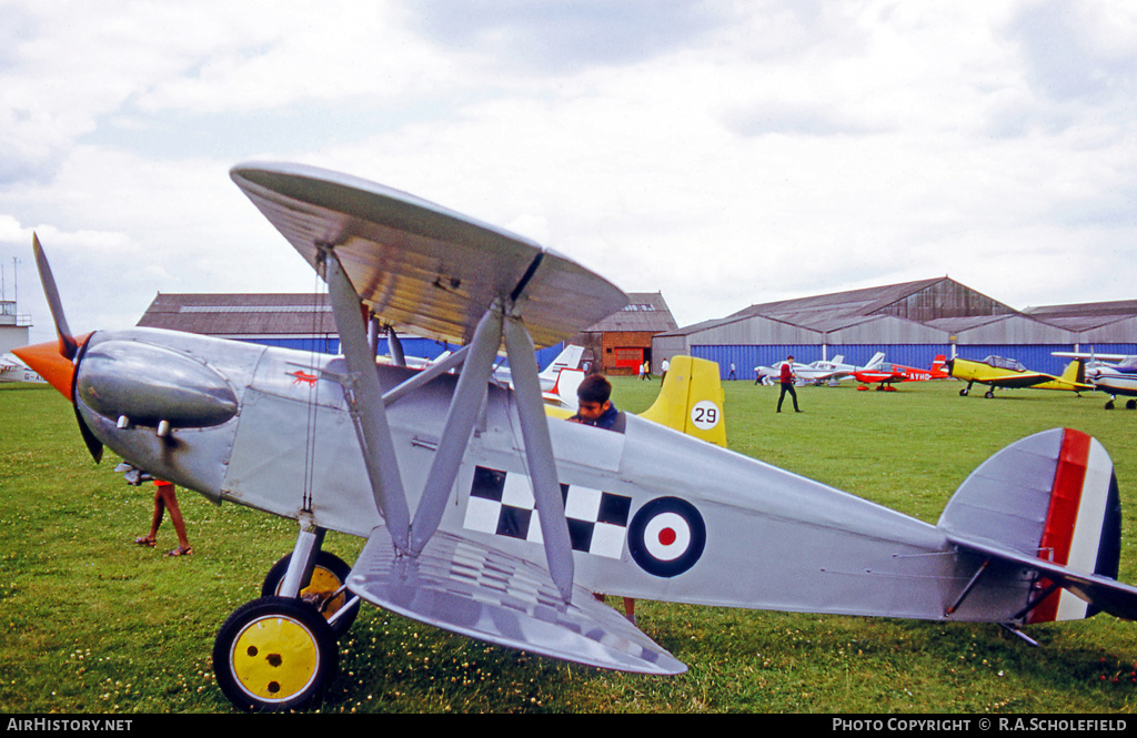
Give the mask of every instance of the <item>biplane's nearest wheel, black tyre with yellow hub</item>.
<path id="1" fill-rule="evenodd" d="M 214 640 L 217 686 L 250 712 L 299 710 L 335 675 L 339 652 L 327 622 L 308 603 L 262 597 L 236 608 Z"/>

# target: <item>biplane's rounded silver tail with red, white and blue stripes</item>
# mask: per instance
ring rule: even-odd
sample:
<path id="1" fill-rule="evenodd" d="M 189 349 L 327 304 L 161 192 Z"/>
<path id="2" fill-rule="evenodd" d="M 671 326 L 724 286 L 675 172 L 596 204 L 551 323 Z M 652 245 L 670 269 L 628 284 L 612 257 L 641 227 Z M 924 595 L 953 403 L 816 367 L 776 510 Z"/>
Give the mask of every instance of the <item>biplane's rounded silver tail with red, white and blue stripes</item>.
<path id="1" fill-rule="evenodd" d="M 1121 556 L 1113 462 L 1086 433 L 1044 431 L 995 454 L 960 486 L 938 526 L 957 546 L 1032 569 L 1043 589 L 1063 588 L 1031 603 L 1028 622 L 1098 610 L 1137 619 L 1137 589 L 1113 581 Z"/>

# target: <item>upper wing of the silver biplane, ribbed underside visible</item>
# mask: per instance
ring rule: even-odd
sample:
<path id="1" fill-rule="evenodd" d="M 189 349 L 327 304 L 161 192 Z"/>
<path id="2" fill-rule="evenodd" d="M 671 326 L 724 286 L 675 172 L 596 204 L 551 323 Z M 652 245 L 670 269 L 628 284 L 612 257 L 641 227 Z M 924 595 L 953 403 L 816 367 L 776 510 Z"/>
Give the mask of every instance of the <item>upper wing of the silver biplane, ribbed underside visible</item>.
<path id="1" fill-rule="evenodd" d="M 360 299 L 428 338 L 466 343 L 495 300 L 508 300 L 533 343 L 551 346 L 628 304 L 555 251 L 374 182 L 296 164 L 230 175 L 309 264 L 316 244 L 335 246 Z"/>

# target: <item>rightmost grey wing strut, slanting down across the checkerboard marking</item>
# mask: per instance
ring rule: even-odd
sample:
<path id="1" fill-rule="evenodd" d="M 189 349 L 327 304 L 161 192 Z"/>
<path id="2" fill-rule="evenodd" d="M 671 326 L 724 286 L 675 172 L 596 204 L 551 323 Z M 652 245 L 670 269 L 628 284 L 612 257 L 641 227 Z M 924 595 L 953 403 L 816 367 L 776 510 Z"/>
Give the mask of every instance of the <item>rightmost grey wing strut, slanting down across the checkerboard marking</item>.
<path id="1" fill-rule="evenodd" d="M 564 498 L 553 458 L 549 422 L 545 415 L 541 380 L 538 376 L 533 340 L 520 318 L 505 318 L 505 350 L 513 373 L 514 397 L 525 439 L 525 463 L 533 484 L 533 499 L 541 521 L 541 538 L 549 562 L 549 575 L 565 602 L 572 598 L 573 561 Z"/>

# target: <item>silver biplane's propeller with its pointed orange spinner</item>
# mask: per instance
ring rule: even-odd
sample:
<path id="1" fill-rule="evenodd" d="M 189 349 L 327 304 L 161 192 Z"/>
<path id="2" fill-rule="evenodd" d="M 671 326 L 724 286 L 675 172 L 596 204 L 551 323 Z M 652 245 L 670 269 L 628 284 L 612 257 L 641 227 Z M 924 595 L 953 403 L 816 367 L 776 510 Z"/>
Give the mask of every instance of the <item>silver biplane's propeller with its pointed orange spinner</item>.
<path id="1" fill-rule="evenodd" d="M 63 301 L 59 299 L 59 289 L 56 287 L 56 279 L 51 274 L 51 265 L 48 264 L 43 246 L 35 233 L 32 234 L 32 251 L 35 254 L 35 266 L 40 272 L 40 282 L 43 284 L 43 295 L 48 299 L 51 320 L 56 324 L 58 340 L 13 349 L 13 354 L 32 367 L 51 387 L 56 388 L 60 395 L 70 400 L 83 442 L 91 453 L 91 457 L 98 463 L 102 461 L 102 441 L 96 438 L 91 429 L 88 428 L 75 403 L 75 372 L 83 359 L 83 349 L 86 348 L 86 341 L 91 338 L 91 334 L 86 333 L 76 338 L 67 325 Z"/>

